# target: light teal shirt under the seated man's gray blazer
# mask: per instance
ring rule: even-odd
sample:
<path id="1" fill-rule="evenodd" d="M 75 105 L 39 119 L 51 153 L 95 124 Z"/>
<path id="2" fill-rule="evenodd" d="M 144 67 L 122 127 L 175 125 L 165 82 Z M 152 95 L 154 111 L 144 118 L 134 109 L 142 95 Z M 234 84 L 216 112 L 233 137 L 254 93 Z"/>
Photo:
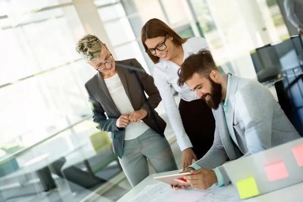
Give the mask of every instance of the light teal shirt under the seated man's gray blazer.
<path id="1" fill-rule="evenodd" d="M 225 115 L 225 121 L 226 121 L 226 126 L 227 126 L 227 130 L 228 133 L 230 135 L 230 137 L 233 139 L 233 141 L 237 144 L 238 146 L 238 142 L 235 136 L 235 132 L 232 128 L 229 127 L 228 125 L 228 95 L 229 95 L 229 86 L 230 86 L 230 79 L 231 79 L 231 75 L 228 74 L 228 79 L 227 79 L 227 87 L 226 87 L 226 97 L 225 97 L 225 101 L 221 100 L 221 106 L 223 107 L 224 110 L 224 115 Z M 201 168 L 199 165 L 197 164 L 192 164 L 191 166 L 189 166 L 195 170 Z M 189 168 L 188 167 L 188 168 Z M 218 186 L 223 186 L 224 185 L 224 180 L 223 180 L 223 176 L 221 174 L 221 172 L 219 171 L 218 168 L 213 169 L 216 173 L 217 179 L 218 179 L 218 183 L 216 183 Z"/>

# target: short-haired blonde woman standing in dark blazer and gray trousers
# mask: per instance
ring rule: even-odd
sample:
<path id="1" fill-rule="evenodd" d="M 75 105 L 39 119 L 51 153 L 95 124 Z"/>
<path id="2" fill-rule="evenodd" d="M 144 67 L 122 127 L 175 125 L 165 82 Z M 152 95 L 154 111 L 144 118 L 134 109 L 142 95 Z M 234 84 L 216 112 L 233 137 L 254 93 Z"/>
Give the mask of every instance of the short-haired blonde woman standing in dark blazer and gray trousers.
<path id="1" fill-rule="evenodd" d="M 154 110 L 161 97 L 153 77 L 136 59 L 115 61 L 106 44 L 91 34 L 77 42 L 76 52 L 97 72 L 85 84 L 93 121 L 110 133 L 130 184 L 134 187 L 149 175 L 147 159 L 158 173 L 176 170 L 164 136 L 166 123 Z M 129 66 L 132 71 L 125 68 Z"/>

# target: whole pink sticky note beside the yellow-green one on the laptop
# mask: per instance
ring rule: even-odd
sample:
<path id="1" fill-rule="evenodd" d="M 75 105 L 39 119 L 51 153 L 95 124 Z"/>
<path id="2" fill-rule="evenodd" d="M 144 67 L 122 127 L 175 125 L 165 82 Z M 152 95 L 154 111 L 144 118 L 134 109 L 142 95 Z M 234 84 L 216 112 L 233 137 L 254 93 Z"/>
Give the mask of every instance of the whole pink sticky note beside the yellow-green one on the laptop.
<path id="1" fill-rule="evenodd" d="M 287 170 L 285 168 L 283 161 L 264 166 L 264 169 L 266 171 L 268 180 L 270 182 L 274 181 L 274 180 L 282 179 L 282 178 L 288 176 L 288 173 L 287 173 Z"/>

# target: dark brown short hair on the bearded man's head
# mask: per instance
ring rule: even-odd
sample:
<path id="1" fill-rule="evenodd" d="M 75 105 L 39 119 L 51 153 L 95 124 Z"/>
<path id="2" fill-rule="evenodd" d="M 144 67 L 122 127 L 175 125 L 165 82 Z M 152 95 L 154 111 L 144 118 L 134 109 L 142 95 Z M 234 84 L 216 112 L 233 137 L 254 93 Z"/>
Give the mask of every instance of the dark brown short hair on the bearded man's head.
<path id="1" fill-rule="evenodd" d="M 209 78 L 212 70 L 217 70 L 212 54 L 207 49 L 201 49 L 197 54 L 191 54 L 185 59 L 178 71 L 178 85 L 183 86 L 185 81 L 192 78 L 194 73 Z"/>

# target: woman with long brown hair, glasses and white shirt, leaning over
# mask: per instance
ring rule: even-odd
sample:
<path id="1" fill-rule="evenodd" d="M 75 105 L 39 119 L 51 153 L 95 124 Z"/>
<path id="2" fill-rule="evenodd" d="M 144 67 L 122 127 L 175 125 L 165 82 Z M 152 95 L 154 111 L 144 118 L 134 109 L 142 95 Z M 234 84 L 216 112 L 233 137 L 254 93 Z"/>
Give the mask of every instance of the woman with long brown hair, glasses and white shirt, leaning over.
<path id="1" fill-rule="evenodd" d="M 192 160 L 202 158 L 214 141 L 215 119 L 205 100 L 198 99 L 194 91 L 184 84 L 178 86 L 178 71 L 183 61 L 200 49 L 209 49 L 202 37 L 182 38 L 159 19 L 151 19 L 141 30 L 145 52 L 156 64 L 155 84 L 158 87 L 169 121 L 182 151 L 182 168 Z M 181 100 L 176 105 L 171 86 Z"/>

